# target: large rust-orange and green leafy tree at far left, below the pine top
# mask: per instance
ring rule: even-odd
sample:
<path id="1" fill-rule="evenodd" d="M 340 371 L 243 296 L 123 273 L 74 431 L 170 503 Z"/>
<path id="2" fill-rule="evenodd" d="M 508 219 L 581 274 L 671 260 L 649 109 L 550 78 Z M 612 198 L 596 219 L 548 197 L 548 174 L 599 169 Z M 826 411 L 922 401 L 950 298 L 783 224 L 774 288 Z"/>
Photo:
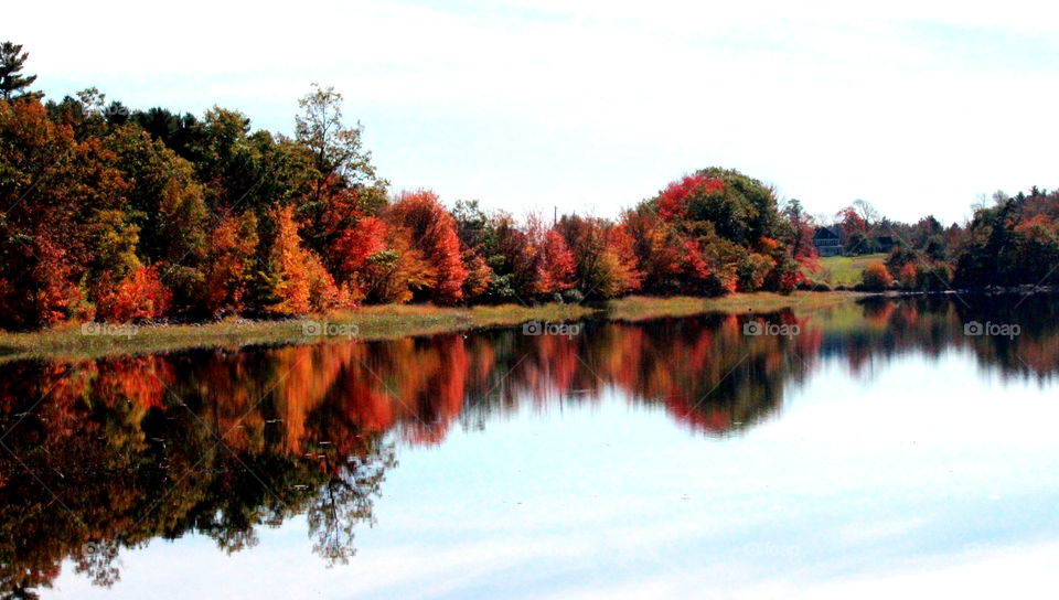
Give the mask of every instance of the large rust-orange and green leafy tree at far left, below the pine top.
<path id="1" fill-rule="evenodd" d="M 0 304 L 8 326 L 88 317 L 82 285 L 107 255 L 126 265 L 127 182 L 98 139 L 78 142 L 34 98 L 0 101 Z M 135 238 L 133 238 L 135 243 Z M 97 245 L 103 244 L 104 247 Z"/>

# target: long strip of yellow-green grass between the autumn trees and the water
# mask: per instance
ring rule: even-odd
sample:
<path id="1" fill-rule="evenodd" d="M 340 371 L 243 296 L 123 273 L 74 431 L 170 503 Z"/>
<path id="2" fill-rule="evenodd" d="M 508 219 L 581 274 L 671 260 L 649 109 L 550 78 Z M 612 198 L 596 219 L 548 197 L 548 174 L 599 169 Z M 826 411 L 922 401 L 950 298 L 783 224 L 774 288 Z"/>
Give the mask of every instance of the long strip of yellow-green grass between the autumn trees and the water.
<path id="1" fill-rule="evenodd" d="M 706 312 L 771 312 L 853 302 L 851 292 L 735 293 L 723 298 L 654 298 L 632 296 L 602 307 L 548 303 L 535 307 L 440 308 L 432 306 L 364 307 L 303 319 L 231 320 L 203 324 L 107 325 L 71 323 L 29 333 L 0 332 L 0 361 L 19 358 L 82 360 L 114 354 L 171 352 L 195 347 L 236 350 L 246 345 L 315 343 L 327 339 L 387 340 L 526 321 L 573 321 L 600 317 L 641 321 Z"/>

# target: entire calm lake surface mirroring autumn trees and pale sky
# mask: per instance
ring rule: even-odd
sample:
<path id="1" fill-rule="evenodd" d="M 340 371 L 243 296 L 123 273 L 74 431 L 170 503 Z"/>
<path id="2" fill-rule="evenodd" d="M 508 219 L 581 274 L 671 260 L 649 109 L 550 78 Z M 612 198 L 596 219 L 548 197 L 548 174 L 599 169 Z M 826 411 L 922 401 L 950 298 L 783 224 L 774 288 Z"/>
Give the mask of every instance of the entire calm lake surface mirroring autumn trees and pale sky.
<path id="1" fill-rule="evenodd" d="M 1059 304 L 1020 300 L 2 364 L 0 586 L 1055 597 Z"/>

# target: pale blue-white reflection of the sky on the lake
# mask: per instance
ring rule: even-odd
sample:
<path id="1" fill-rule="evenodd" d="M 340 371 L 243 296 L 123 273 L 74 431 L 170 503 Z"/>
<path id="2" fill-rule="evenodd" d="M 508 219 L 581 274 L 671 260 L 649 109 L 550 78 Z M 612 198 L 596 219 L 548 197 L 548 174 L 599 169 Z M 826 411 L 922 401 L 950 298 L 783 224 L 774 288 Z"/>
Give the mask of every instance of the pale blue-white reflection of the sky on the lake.
<path id="1" fill-rule="evenodd" d="M 725 440 L 614 396 L 524 409 L 403 448 L 347 566 L 327 569 L 298 518 L 232 556 L 191 536 L 125 551 L 109 593 L 1050 596 L 1057 417 L 1053 389 L 964 353 L 825 362 Z M 108 594 L 68 564 L 56 591 Z"/>

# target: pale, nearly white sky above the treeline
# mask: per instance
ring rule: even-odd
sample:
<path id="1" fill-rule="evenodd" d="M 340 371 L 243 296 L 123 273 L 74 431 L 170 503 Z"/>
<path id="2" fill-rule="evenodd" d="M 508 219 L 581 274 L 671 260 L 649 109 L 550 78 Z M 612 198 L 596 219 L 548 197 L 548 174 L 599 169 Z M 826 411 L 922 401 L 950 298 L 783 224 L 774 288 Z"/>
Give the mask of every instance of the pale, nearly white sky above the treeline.
<path id="1" fill-rule="evenodd" d="M 817 215 L 944 222 L 1059 186 L 1059 22 L 1039 1 L 19 2 L 3 34 L 58 99 L 293 131 L 312 83 L 393 190 L 616 216 L 735 168 Z"/>

